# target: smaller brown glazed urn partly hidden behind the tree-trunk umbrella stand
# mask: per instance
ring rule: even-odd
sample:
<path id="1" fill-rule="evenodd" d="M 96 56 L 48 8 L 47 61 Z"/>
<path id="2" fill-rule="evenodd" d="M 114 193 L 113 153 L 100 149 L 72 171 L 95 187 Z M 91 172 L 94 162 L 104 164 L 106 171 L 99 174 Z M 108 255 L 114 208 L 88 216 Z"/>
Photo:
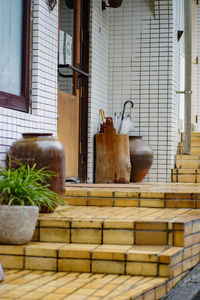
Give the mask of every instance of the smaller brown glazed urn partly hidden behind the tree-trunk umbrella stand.
<path id="1" fill-rule="evenodd" d="M 140 182 L 149 172 L 153 162 L 153 151 L 141 136 L 129 136 L 131 178 L 130 182 Z"/>

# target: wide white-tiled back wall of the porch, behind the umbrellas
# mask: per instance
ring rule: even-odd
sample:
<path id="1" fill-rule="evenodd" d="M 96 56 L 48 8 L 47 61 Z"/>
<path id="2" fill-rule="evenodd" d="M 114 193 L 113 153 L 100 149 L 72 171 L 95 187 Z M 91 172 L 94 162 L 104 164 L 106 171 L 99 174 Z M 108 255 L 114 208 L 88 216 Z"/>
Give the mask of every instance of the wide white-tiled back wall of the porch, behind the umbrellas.
<path id="1" fill-rule="evenodd" d="M 179 1 L 126 0 L 109 9 L 109 113 L 134 102 L 133 135 L 154 151 L 148 181 L 170 181 L 178 142 Z M 129 111 L 130 112 L 130 111 Z"/>

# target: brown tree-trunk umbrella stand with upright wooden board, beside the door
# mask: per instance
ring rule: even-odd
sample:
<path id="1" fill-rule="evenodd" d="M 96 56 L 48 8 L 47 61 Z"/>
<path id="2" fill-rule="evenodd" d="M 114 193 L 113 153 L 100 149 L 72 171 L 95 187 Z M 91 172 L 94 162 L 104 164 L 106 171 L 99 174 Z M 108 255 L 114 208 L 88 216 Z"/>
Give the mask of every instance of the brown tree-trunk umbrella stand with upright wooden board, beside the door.
<path id="1" fill-rule="evenodd" d="M 116 134 L 112 118 L 106 118 L 104 133 L 96 134 L 96 183 L 129 183 L 131 163 L 129 137 Z"/>

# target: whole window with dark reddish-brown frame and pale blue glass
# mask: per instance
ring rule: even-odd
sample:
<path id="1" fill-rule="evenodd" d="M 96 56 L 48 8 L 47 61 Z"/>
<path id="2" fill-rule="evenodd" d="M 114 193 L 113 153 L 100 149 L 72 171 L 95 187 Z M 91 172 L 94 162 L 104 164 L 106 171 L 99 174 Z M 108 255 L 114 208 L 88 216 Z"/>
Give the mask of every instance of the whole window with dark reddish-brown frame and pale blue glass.
<path id="1" fill-rule="evenodd" d="M 0 0 L 0 106 L 28 112 L 30 0 Z"/>

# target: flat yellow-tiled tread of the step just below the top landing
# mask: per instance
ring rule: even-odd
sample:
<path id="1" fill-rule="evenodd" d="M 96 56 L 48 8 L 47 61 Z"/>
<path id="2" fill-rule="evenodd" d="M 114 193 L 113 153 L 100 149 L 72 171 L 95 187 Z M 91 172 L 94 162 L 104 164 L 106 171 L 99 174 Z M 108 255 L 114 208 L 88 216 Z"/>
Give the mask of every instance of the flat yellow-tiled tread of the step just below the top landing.
<path id="1" fill-rule="evenodd" d="M 59 208 L 54 214 L 40 214 L 39 221 L 44 226 L 46 222 L 63 220 L 75 224 L 77 219 L 98 221 L 99 224 L 106 220 L 125 220 L 125 221 L 139 221 L 139 220 L 159 220 L 162 221 L 178 221 L 198 219 L 200 217 L 200 210 L 193 210 L 191 208 L 146 208 L 146 207 L 99 207 L 99 206 L 70 206 L 69 208 Z M 80 224 L 78 224 L 80 226 Z M 78 227 L 79 227 L 78 226 Z M 99 225 L 100 226 L 100 225 Z M 74 226 L 73 226 L 74 227 Z"/>

